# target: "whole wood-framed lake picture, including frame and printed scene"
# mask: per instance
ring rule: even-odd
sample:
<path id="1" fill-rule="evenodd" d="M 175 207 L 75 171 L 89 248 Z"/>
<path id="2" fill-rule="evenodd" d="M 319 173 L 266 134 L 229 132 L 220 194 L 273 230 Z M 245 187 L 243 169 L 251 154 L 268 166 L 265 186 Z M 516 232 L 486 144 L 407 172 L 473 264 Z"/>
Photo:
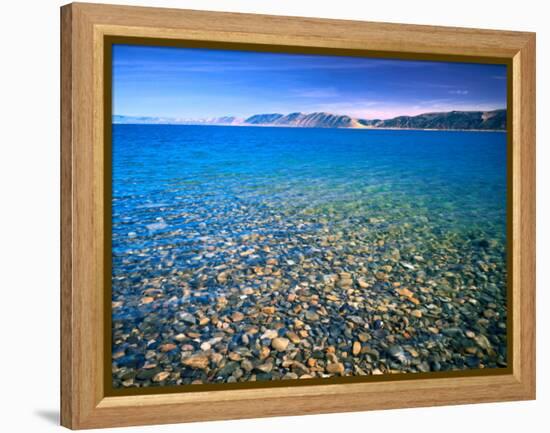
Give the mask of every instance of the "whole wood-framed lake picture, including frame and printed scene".
<path id="1" fill-rule="evenodd" d="M 534 34 L 61 17 L 64 426 L 535 397 Z"/>

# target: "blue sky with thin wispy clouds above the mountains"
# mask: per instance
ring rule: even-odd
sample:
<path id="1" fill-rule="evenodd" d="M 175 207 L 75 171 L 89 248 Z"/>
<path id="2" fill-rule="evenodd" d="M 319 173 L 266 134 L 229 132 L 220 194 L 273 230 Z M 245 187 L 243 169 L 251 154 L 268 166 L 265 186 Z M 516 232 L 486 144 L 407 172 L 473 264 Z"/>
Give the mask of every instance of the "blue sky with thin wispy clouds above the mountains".
<path id="1" fill-rule="evenodd" d="M 506 108 L 506 66 L 113 46 L 113 114 L 200 119 L 326 111 L 386 119 Z"/>

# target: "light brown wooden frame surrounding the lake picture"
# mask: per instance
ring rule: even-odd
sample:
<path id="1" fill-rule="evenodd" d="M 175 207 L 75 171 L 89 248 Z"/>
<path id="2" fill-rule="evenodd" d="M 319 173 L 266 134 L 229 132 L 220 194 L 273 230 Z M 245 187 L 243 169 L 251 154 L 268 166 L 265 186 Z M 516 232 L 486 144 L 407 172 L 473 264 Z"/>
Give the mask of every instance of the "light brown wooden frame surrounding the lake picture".
<path id="1" fill-rule="evenodd" d="M 109 396 L 107 38 L 495 59 L 511 66 L 512 367 L 504 374 Z M 282 47 L 282 48 L 281 48 Z M 535 34 L 73 3 L 61 8 L 61 424 L 72 429 L 535 398 Z M 109 215 L 110 217 L 110 215 Z M 509 220 L 510 221 L 510 220 Z M 110 278 L 110 275 L 109 275 Z"/>

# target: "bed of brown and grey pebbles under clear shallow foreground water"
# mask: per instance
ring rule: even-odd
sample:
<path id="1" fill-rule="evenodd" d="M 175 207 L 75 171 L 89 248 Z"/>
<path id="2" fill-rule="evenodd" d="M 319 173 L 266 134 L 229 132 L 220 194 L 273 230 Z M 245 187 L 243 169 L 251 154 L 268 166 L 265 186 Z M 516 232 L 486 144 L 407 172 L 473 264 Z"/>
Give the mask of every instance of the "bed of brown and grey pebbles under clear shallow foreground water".
<path id="1" fill-rule="evenodd" d="M 507 365 L 501 243 L 435 237 L 423 218 L 345 221 L 273 215 L 268 235 L 196 233 L 187 269 L 165 245 L 160 276 L 115 277 L 114 387 Z"/>

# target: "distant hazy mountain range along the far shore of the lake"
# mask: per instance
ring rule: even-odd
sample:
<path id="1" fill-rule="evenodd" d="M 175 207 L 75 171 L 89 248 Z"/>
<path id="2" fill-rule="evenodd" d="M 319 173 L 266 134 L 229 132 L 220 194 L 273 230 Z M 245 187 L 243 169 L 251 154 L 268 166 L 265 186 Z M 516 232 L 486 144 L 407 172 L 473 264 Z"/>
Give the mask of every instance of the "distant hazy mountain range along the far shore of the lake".
<path id="1" fill-rule="evenodd" d="M 113 123 L 290 126 L 302 128 L 382 128 L 382 129 L 442 129 L 442 130 L 505 130 L 506 110 L 448 111 L 393 119 L 360 119 L 331 113 L 255 114 L 246 119 L 224 116 L 207 119 L 177 119 L 163 117 L 113 116 Z"/>

